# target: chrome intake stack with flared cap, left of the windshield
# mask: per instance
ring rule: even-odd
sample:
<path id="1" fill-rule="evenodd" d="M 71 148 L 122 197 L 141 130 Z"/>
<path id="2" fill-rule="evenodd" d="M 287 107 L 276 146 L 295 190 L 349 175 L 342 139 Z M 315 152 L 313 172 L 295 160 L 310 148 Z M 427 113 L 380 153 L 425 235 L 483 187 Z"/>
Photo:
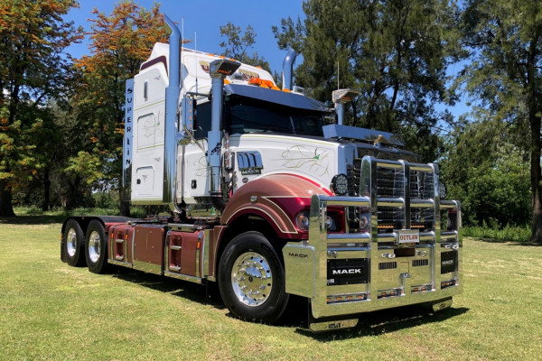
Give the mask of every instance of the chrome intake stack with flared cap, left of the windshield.
<path id="1" fill-rule="evenodd" d="M 220 212 L 226 207 L 226 199 L 220 189 L 220 153 L 222 148 L 222 103 L 224 79 L 233 74 L 241 63 L 220 59 L 210 63 L 211 104 L 210 131 L 208 133 L 207 162 L 210 167 L 210 201 Z"/>

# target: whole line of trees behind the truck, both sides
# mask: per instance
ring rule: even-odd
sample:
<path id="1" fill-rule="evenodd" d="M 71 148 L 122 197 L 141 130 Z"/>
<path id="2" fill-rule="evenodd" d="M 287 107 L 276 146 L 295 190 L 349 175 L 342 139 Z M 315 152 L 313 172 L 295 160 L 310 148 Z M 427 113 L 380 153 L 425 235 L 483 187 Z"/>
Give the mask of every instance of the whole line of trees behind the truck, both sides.
<path id="1" fill-rule="evenodd" d="M 14 206 L 130 211 L 119 197 L 124 83 L 154 42 L 167 42 L 164 22 L 159 5 L 98 9 L 90 55 L 71 59 L 83 31 L 63 15 L 76 5 L 0 4 L 0 216 Z M 273 27 L 277 51 L 303 53 L 295 84 L 328 103 L 333 89 L 359 89 L 349 124 L 401 134 L 424 162 L 439 162 L 464 224 L 529 225 L 542 243 L 539 1 L 307 0 L 303 9 L 304 20 Z M 250 26 L 220 26 L 218 41 L 219 31 L 224 55 L 269 69 Z M 468 113 L 456 118 L 447 108 L 460 99 Z"/>

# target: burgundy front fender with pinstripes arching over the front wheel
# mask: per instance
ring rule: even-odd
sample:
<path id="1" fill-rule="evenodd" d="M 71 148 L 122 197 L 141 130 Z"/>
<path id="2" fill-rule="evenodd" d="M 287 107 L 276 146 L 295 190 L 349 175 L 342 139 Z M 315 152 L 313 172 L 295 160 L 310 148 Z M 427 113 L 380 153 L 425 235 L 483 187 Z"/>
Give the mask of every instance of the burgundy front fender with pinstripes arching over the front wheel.
<path id="1" fill-rule="evenodd" d="M 311 207 L 314 194 L 331 195 L 313 180 L 292 174 L 270 174 L 251 180 L 239 188 L 229 199 L 221 223 L 232 224 L 237 218 L 254 215 L 265 219 L 276 235 L 287 239 L 302 239 L 306 232 L 299 232 L 294 225 L 295 215 Z"/>

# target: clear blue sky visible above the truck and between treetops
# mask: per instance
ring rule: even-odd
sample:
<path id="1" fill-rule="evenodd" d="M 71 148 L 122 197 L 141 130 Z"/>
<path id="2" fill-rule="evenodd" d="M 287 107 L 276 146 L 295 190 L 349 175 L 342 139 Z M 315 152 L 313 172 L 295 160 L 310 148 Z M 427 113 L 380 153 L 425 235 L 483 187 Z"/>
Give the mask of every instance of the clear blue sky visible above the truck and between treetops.
<path id="1" fill-rule="evenodd" d="M 154 1 L 135 0 L 135 3 L 150 9 Z M 276 39 L 271 32 L 271 26 L 280 26 L 281 19 L 288 16 L 294 20 L 297 19 L 297 16 L 304 19 L 302 0 L 236 0 L 229 2 L 220 0 L 162 0 L 157 3 L 160 4 L 162 13 L 179 23 L 180 28 L 182 19 L 184 20 L 184 38 L 193 40 L 196 37 L 199 51 L 222 52 L 219 43 L 225 38 L 220 37 L 220 25 L 230 22 L 244 30 L 250 24 L 257 33 L 256 44 L 252 51 L 257 51 L 258 55 L 263 56 L 269 62 L 271 69 L 277 72 L 282 70 L 285 51 L 278 49 Z M 79 9 L 71 10 L 66 19 L 89 31 L 88 19 L 95 18 L 94 14 L 90 14 L 92 9 L 96 7 L 100 12 L 110 14 L 115 4 L 117 4 L 116 1 L 79 0 Z M 194 43 L 189 43 L 186 47 L 193 49 Z M 75 58 L 89 54 L 88 43 L 72 45 L 69 52 Z M 298 59 L 298 62 L 300 61 L 301 59 Z"/>

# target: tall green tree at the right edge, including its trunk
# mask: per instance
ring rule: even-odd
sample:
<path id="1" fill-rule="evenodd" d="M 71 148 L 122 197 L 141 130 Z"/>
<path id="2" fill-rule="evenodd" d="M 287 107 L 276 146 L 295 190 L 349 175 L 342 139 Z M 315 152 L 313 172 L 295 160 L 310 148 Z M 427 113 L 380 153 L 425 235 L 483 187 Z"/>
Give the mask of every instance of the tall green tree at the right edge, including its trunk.
<path id="1" fill-rule="evenodd" d="M 542 244 L 542 3 L 535 0 L 469 0 L 462 14 L 463 42 L 472 62 L 462 73 L 476 108 L 519 134 L 529 153 L 532 238 Z"/>

